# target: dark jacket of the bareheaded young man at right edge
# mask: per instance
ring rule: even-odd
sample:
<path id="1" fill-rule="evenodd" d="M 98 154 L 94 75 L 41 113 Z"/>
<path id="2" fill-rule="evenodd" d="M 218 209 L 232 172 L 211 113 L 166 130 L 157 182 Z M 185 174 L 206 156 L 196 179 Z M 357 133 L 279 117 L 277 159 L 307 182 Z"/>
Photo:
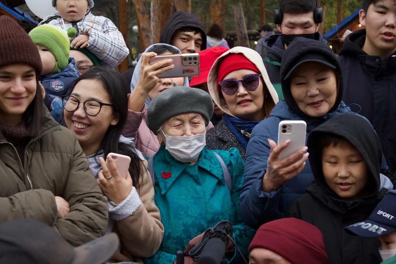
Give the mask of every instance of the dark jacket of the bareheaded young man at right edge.
<path id="1" fill-rule="evenodd" d="M 396 53 L 389 57 L 370 56 L 362 50 L 366 29 L 348 35 L 339 52 L 343 69 L 346 105 L 360 105 L 360 115 L 373 125 L 390 172 L 396 171 Z"/>

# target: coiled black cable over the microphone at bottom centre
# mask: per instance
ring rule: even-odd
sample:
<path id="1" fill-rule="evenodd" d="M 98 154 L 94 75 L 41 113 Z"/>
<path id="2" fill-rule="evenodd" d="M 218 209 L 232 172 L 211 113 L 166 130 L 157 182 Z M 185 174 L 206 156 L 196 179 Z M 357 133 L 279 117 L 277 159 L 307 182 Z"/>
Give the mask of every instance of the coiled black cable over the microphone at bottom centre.
<path id="1" fill-rule="evenodd" d="M 217 229 L 217 227 L 223 225 L 222 229 Z M 226 231 L 225 231 L 226 230 Z M 246 259 L 244 258 L 242 252 L 235 244 L 234 239 L 232 239 L 232 226 L 228 221 L 220 221 L 215 225 L 214 228 L 208 228 L 205 230 L 204 235 L 202 236 L 201 241 L 196 244 L 189 252 L 188 256 L 191 256 L 194 261 L 198 261 L 200 255 L 202 253 L 202 249 L 204 248 L 205 244 L 208 242 L 209 239 L 218 237 L 224 241 L 225 245 L 228 245 L 228 242 L 231 241 L 234 244 L 234 247 L 238 250 L 239 254 L 241 255 L 244 263 L 247 264 Z"/>

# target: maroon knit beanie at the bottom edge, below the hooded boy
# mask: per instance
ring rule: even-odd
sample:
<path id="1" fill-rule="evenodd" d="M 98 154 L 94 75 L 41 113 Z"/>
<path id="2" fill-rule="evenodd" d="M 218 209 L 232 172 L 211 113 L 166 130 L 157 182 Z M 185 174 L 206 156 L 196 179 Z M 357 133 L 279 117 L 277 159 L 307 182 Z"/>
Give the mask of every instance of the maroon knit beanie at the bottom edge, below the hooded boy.
<path id="1" fill-rule="evenodd" d="M 283 218 L 263 224 L 249 245 L 283 256 L 293 264 L 327 264 L 322 232 L 315 226 L 297 219 Z"/>

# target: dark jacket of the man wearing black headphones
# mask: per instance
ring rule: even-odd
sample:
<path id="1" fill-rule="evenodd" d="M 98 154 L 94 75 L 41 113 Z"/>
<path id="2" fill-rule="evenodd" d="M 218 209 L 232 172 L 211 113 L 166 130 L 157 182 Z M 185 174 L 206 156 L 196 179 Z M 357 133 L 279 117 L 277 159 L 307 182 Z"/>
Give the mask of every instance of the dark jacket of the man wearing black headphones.
<path id="1" fill-rule="evenodd" d="M 327 44 L 327 41 L 322 37 L 322 34 L 320 34 L 319 32 L 315 33 L 314 38 L 315 40 Z M 280 66 L 282 56 L 285 52 L 282 34 L 274 34 L 272 36 L 269 36 L 264 43 L 264 47 L 267 50 L 267 56 L 264 59 L 265 69 L 267 70 L 272 85 L 278 93 L 279 100 L 282 100 L 284 97 L 282 96 L 282 86 L 280 84 Z"/>

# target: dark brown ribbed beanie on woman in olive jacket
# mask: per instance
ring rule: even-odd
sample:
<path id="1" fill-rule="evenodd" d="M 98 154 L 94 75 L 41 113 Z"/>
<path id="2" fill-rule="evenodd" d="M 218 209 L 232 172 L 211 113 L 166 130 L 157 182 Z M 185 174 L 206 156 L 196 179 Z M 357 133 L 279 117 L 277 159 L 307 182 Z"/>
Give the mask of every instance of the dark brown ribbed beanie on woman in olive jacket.
<path id="1" fill-rule="evenodd" d="M 32 66 L 37 77 L 43 71 L 40 54 L 29 35 L 10 17 L 0 17 L 0 67 L 22 63 Z"/>

